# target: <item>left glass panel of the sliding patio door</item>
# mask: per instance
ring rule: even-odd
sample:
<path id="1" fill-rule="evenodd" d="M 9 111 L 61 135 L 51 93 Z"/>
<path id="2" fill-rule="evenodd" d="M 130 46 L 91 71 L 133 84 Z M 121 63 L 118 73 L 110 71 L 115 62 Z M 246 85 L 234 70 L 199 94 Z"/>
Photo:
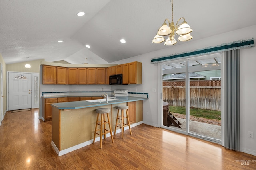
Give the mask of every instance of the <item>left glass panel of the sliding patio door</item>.
<path id="1" fill-rule="evenodd" d="M 163 125 L 186 131 L 185 62 L 162 66 Z"/>

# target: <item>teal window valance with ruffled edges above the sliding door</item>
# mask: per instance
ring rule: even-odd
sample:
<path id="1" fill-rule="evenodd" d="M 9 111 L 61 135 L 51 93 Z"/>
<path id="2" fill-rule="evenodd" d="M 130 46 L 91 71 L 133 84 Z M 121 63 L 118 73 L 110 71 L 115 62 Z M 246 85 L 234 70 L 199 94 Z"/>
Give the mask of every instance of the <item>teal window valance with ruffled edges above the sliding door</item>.
<path id="1" fill-rule="evenodd" d="M 246 47 L 254 47 L 253 38 L 248 40 L 234 41 L 232 43 L 224 43 L 221 45 L 217 45 L 215 47 L 206 47 L 204 49 L 197 49 L 195 51 L 187 51 L 187 52 L 168 55 L 168 56 L 155 57 L 151 59 L 151 63 L 162 63 L 164 61 L 171 61 L 171 60 L 176 60 L 180 58 L 188 58 L 188 57 L 195 57 L 199 55 L 219 53 L 222 51 L 241 49 Z"/>

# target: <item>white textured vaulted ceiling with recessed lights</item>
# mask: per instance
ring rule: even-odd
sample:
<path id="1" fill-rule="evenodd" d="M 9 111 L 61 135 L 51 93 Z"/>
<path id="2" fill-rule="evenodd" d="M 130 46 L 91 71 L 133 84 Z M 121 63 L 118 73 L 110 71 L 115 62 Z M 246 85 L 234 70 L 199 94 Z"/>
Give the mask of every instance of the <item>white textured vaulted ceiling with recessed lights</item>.
<path id="1" fill-rule="evenodd" d="M 190 41 L 256 25 L 255 0 L 173 4 L 174 23 L 184 17 L 193 29 Z M 86 15 L 76 16 L 80 11 Z M 166 18 L 171 20 L 170 0 L 1 0 L 0 53 L 6 64 L 27 57 L 71 64 L 88 58 L 89 64 L 108 64 L 186 43 L 169 47 L 151 42 Z"/>

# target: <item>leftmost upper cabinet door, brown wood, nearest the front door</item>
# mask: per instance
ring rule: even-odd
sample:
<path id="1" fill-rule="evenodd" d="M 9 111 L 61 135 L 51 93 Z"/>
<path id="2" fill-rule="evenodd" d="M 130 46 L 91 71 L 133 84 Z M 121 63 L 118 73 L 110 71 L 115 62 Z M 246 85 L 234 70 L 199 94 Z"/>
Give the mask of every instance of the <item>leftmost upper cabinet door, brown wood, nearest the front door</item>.
<path id="1" fill-rule="evenodd" d="M 56 66 L 43 66 L 43 84 L 56 84 Z"/>

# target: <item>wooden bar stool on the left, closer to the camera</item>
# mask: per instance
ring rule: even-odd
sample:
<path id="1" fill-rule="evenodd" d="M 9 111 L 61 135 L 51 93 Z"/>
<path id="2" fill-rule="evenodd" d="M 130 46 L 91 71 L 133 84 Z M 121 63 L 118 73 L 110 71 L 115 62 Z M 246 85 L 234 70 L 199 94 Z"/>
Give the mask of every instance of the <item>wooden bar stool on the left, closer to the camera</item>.
<path id="1" fill-rule="evenodd" d="M 102 135 L 104 135 L 104 139 L 106 139 L 106 133 L 110 133 L 111 135 L 111 140 L 112 143 L 114 143 L 113 135 L 112 135 L 112 130 L 111 130 L 111 125 L 110 125 L 110 119 L 108 113 L 110 113 L 110 109 L 108 108 L 100 108 L 95 110 L 97 115 L 97 120 L 96 120 L 96 125 L 95 125 L 95 131 L 94 131 L 94 138 L 93 138 L 93 143 L 95 142 L 95 136 L 100 135 L 100 149 L 102 148 Z M 108 121 L 105 121 L 105 114 L 107 114 Z M 99 115 L 101 115 L 100 121 Z M 106 129 L 106 124 L 108 123 L 109 130 Z M 97 126 L 100 125 L 100 129 L 97 129 Z M 103 132 L 103 126 L 104 126 L 104 132 Z M 97 131 L 100 131 L 100 133 L 97 133 Z"/>

